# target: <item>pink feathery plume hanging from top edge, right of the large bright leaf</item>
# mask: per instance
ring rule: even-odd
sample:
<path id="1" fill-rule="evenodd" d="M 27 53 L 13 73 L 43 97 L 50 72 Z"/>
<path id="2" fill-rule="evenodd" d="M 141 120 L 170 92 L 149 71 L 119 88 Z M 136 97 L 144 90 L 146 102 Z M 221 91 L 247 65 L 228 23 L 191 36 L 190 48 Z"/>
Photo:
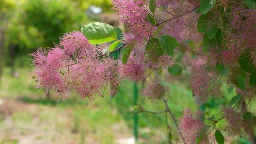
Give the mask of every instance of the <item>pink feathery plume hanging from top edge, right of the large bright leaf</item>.
<path id="1" fill-rule="evenodd" d="M 146 20 L 148 14 L 144 8 L 144 0 L 113 0 L 113 5 L 121 23 L 137 41 L 141 42 L 153 34 L 155 27 Z"/>

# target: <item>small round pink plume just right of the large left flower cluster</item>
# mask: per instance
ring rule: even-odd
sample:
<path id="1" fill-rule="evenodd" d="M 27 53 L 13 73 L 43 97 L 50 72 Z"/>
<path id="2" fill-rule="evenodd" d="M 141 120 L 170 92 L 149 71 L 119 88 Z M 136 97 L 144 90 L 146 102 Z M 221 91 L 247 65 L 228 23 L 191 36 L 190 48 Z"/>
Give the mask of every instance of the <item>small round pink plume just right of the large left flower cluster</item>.
<path id="1" fill-rule="evenodd" d="M 145 68 L 138 59 L 130 56 L 126 64 L 120 63 L 119 75 L 129 80 L 142 81 L 145 77 Z"/>

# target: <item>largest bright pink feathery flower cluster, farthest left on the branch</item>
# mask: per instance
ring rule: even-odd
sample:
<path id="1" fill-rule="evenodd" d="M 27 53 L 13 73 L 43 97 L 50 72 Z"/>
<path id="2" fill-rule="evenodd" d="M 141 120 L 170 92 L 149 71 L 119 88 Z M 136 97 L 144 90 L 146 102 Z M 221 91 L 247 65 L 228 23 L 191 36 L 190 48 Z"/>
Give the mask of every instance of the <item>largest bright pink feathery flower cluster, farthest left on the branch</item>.
<path id="1" fill-rule="evenodd" d="M 80 32 L 65 34 L 60 45 L 48 54 L 43 50 L 31 54 L 39 86 L 60 92 L 75 90 L 82 97 L 100 93 L 110 82 L 110 69 L 115 65 L 111 58 L 95 58 L 101 51 L 101 47 L 90 45 Z"/>

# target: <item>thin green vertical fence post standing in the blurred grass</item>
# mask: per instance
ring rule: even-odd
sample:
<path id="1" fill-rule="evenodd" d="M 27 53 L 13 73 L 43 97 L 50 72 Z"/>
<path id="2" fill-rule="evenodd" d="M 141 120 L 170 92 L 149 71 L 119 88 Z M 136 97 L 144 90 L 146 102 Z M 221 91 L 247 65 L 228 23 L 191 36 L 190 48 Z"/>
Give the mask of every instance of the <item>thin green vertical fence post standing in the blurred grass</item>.
<path id="1" fill-rule="evenodd" d="M 137 82 L 134 81 L 134 106 L 137 106 L 137 99 L 138 99 L 138 89 L 137 89 Z M 138 116 L 137 113 L 134 113 L 134 137 L 137 141 L 138 139 Z"/>

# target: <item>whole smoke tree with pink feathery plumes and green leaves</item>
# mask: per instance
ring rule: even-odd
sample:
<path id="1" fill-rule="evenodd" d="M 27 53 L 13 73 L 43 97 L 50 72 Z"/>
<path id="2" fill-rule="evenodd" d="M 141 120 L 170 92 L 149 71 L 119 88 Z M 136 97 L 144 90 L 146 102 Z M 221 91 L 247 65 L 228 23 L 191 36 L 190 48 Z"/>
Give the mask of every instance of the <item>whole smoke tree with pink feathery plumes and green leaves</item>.
<path id="1" fill-rule="evenodd" d="M 142 94 L 162 99 L 165 109 L 137 112 L 169 114 L 184 144 L 224 144 L 223 135 L 256 143 L 250 109 L 256 95 L 255 0 L 113 0 L 113 9 L 124 32 L 92 22 L 64 34 L 49 51 L 31 54 L 39 87 L 90 99 L 106 89 L 113 97 L 123 79 L 145 82 Z M 184 62 L 174 62 L 177 54 Z M 160 81 L 165 72 L 177 79 L 189 72 L 185 81 L 198 112 L 184 109 L 183 117 L 174 117 Z M 237 94 L 219 107 L 219 115 L 209 114 L 203 106 L 211 98 L 225 99 L 223 83 Z M 227 124 L 216 127 L 220 121 Z"/>

